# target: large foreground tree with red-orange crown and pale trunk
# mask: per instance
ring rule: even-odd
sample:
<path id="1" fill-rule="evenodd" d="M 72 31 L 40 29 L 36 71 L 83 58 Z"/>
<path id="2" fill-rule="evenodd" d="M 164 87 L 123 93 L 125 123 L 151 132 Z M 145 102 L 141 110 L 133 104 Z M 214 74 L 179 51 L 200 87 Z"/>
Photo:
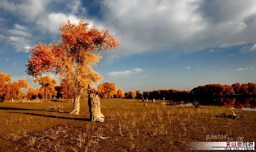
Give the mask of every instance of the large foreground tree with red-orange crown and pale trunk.
<path id="1" fill-rule="evenodd" d="M 72 114 L 79 114 L 80 96 L 87 86 L 102 80 L 92 66 L 100 59 L 101 50 L 115 49 L 119 42 L 109 30 L 89 29 L 89 22 L 78 24 L 68 21 L 60 26 L 61 39 L 54 44 L 32 46 L 27 63 L 27 73 L 38 77 L 43 72 L 54 72 L 61 83 L 66 83 L 74 98 Z"/>

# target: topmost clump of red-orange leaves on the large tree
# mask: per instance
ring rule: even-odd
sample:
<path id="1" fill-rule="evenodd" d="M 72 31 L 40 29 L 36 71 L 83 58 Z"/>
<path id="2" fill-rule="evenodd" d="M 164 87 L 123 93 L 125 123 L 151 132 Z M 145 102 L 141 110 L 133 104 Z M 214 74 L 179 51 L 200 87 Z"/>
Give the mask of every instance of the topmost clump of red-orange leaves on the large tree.
<path id="1" fill-rule="evenodd" d="M 76 26 L 70 22 L 60 27 L 62 36 L 62 44 L 74 50 L 108 50 L 115 49 L 119 45 L 119 41 L 109 35 L 109 30 L 98 30 L 96 28 L 89 29 L 89 22 L 82 19 Z"/>

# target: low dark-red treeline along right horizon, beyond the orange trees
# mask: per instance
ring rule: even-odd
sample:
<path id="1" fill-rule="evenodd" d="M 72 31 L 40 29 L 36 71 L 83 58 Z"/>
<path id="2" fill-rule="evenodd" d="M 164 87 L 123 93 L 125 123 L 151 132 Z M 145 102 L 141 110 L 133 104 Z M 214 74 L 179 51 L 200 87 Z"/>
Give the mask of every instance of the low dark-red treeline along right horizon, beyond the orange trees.
<path id="1" fill-rule="evenodd" d="M 208 84 L 205 86 L 198 86 L 192 90 L 176 90 L 176 89 L 162 89 L 154 91 L 143 91 L 140 90 L 125 92 L 125 98 L 137 98 L 142 97 L 148 99 L 191 99 L 191 98 L 219 98 L 226 97 L 227 95 L 244 94 L 244 95 L 256 95 L 256 84 L 247 83 L 240 84 L 235 83 L 230 85 L 222 84 Z"/>

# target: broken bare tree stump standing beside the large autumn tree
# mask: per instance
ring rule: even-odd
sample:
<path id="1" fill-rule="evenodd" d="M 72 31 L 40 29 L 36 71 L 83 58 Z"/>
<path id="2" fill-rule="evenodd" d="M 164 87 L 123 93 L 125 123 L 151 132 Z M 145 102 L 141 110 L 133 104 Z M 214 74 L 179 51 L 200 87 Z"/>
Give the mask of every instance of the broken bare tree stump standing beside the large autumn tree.
<path id="1" fill-rule="evenodd" d="M 89 93 L 88 106 L 91 121 L 103 122 L 105 120 L 105 116 L 100 112 L 100 102 L 98 95 Z"/>

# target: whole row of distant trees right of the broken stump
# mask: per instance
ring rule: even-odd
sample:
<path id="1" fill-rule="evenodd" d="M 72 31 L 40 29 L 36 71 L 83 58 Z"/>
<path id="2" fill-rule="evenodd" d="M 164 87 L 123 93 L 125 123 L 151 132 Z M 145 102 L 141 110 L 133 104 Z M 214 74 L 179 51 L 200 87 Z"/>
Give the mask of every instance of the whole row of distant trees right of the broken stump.
<path id="1" fill-rule="evenodd" d="M 188 98 L 218 98 L 225 97 L 231 94 L 255 94 L 256 84 L 247 83 L 240 84 L 234 83 L 230 85 L 222 84 L 208 84 L 205 86 L 198 86 L 192 90 L 177 90 L 177 89 L 161 89 L 153 91 L 128 91 L 123 92 L 122 89 L 116 91 L 116 84 L 106 82 L 98 85 L 98 94 L 101 98 L 136 98 L 136 99 L 180 99 L 185 100 Z"/>

